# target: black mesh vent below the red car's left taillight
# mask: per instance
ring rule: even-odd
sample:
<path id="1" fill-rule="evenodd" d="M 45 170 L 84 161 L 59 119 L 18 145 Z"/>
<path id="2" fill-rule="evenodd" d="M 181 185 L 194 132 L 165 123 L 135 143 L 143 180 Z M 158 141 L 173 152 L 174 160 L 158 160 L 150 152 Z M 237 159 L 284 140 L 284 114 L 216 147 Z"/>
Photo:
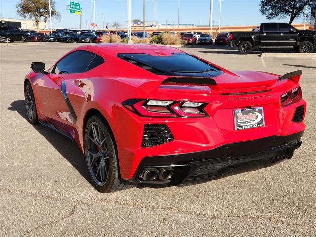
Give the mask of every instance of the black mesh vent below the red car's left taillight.
<path id="1" fill-rule="evenodd" d="M 145 124 L 142 147 L 157 146 L 173 140 L 169 127 L 165 124 Z"/>

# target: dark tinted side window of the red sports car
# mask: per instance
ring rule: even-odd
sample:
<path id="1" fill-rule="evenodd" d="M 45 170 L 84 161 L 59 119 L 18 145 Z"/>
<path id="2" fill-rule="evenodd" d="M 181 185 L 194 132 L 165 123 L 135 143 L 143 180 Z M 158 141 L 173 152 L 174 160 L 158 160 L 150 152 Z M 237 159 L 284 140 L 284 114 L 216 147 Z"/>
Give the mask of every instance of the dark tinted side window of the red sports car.
<path id="1" fill-rule="evenodd" d="M 101 59 L 95 59 L 97 57 Z M 60 60 L 54 69 L 54 73 L 83 73 L 101 63 L 104 63 L 102 57 L 88 51 L 78 50 Z"/>

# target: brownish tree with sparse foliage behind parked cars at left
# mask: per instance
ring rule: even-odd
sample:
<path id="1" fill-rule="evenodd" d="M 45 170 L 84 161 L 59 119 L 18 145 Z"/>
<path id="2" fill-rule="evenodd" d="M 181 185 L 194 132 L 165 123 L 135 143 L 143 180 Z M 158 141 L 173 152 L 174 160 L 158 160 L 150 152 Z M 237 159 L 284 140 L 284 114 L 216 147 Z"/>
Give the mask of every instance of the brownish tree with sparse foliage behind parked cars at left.
<path id="1" fill-rule="evenodd" d="M 59 21 L 61 15 L 55 8 L 55 0 L 51 0 L 50 2 L 51 16 Z M 40 20 L 47 22 L 49 17 L 48 0 L 20 0 L 20 3 L 16 5 L 16 8 L 17 13 L 21 17 L 34 19 L 37 31 L 40 30 Z"/>

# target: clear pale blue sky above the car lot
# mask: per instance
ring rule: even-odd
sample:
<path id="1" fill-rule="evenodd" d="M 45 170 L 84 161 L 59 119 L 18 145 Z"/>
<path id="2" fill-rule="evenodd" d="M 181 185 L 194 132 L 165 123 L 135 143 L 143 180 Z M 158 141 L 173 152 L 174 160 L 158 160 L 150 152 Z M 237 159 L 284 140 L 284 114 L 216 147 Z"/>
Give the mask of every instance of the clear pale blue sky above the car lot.
<path id="1" fill-rule="evenodd" d="M 91 0 L 73 0 L 81 4 L 83 8 L 82 24 L 86 28 L 90 18 L 93 22 L 93 3 Z M 20 18 L 16 13 L 16 4 L 19 0 L 0 0 L 0 16 L 8 18 Z M 79 28 L 79 15 L 69 13 L 67 5 L 69 0 L 56 0 L 56 9 L 61 13 L 60 22 L 53 20 L 54 27 Z M 267 22 L 265 16 L 259 12 L 260 0 L 223 0 L 221 25 L 255 25 Z M 118 21 L 126 26 L 127 0 L 96 0 L 96 23 L 102 26 L 104 21 L 110 23 Z M 210 0 L 180 0 L 180 23 L 209 24 Z M 132 19 L 143 17 L 143 1 L 132 0 Z M 154 2 L 145 0 L 145 17 L 148 21 L 154 21 Z M 160 23 L 178 22 L 178 0 L 158 0 L 156 2 L 156 21 Z M 219 21 L 219 1 L 213 1 L 213 22 Z M 278 22 L 288 22 L 288 19 L 275 19 Z M 303 19 L 296 19 L 293 23 L 303 23 Z"/>

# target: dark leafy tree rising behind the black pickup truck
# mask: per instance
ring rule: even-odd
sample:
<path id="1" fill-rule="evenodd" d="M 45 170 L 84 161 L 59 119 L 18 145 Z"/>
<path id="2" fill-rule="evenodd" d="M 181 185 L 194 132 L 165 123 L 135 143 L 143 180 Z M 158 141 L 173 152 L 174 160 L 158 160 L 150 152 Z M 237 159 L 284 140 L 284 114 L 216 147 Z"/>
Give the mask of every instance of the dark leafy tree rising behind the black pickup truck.
<path id="1" fill-rule="evenodd" d="M 313 0 L 261 0 L 260 12 L 266 16 L 268 20 L 274 18 L 290 17 L 289 24 L 300 15 L 305 14 L 306 6 L 311 6 Z"/>

